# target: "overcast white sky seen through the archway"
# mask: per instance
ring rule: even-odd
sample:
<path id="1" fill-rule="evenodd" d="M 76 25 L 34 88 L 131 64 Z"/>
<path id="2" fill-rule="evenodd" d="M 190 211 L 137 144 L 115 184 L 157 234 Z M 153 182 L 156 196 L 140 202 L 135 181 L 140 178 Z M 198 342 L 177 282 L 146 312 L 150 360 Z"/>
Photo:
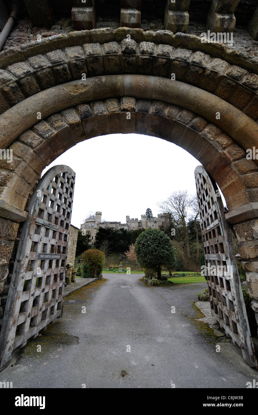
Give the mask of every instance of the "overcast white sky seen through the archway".
<path id="1" fill-rule="evenodd" d="M 140 134 L 110 134 L 88 139 L 59 156 L 57 164 L 76 173 L 71 224 L 80 227 L 88 212 L 102 220 L 125 223 L 126 215 L 141 219 L 175 190 L 196 193 L 194 171 L 200 162 L 166 140 Z"/>

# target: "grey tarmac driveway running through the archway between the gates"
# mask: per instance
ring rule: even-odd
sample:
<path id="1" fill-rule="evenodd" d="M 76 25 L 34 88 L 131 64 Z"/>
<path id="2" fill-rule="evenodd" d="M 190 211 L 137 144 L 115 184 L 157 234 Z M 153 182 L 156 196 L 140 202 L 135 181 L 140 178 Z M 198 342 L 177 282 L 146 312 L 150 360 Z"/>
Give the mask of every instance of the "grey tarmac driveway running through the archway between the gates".
<path id="1" fill-rule="evenodd" d="M 220 343 L 218 353 L 196 326 L 191 303 L 206 283 L 149 287 L 141 274 L 102 275 L 107 281 L 68 296 L 63 317 L 13 353 L 0 381 L 13 388 L 246 388 L 257 376 L 238 347 Z"/>

